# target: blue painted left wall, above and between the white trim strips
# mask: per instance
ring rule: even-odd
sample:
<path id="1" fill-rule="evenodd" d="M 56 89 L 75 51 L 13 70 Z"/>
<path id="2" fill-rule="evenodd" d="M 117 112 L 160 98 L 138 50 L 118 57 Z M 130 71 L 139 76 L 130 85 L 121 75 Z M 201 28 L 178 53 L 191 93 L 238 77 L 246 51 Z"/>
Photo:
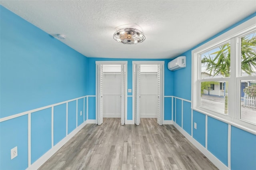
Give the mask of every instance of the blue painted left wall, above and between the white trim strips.
<path id="1" fill-rule="evenodd" d="M 87 57 L 3 6 L 0 38 L 0 118 L 87 95 Z M 79 100 L 78 107 L 83 111 L 81 105 Z M 76 128 L 76 122 L 74 125 L 69 132 Z M 32 163 L 52 148 L 51 128 L 52 108 L 31 113 Z M 26 169 L 28 115 L 1 122 L 0 134 L 0 169 Z M 54 107 L 54 145 L 65 136 L 63 104 Z M 15 146 L 18 156 L 11 160 L 10 150 Z"/>

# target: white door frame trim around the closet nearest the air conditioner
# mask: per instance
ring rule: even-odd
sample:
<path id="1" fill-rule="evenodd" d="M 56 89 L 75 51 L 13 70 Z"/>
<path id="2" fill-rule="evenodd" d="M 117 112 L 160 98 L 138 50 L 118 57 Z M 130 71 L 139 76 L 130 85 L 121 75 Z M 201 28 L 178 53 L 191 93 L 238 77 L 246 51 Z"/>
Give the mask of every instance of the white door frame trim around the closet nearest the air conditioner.
<path id="1" fill-rule="evenodd" d="M 162 95 L 161 95 L 161 117 L 162 117 L 162 123 L 164 122 L 164 61 L 132 61 L 132 89 L 133 91 L 135 92 L 135 68 L 134 68 L 134 65 L 135 64 L 139 64 L 139 65 L 143 65 L 143 64 L 154 64 L 154 65 L 162 65 Z M 134 119 L 134 106 L 135 106 L 135 93 L 132 93 L 132 124 L 135 124 L 135 119 Z"/>

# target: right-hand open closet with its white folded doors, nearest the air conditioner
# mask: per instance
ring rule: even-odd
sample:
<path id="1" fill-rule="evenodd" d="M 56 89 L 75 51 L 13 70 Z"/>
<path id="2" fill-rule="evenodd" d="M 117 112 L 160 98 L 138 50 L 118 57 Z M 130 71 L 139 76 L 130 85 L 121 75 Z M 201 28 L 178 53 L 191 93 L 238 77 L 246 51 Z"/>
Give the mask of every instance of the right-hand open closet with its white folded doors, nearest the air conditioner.
<path id="1" fill-rule="evenodd" d="M 136 125 L 140 125 L 140 118 L 157 118 L 157 123 L 162 125 L 163 65 L 162 61 L 133 62 L 133 111 Z"/>

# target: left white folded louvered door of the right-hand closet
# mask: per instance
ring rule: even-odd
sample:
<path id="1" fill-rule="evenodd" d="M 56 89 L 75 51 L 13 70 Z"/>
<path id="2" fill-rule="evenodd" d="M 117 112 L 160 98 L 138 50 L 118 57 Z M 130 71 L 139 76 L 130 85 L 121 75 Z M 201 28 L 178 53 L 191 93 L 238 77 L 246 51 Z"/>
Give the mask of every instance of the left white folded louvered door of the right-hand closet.
<path id="1" fill-rule="evenodd" d="M 134 123 L 140 125 L 140 65 L 134 65 L 135 95 L 134 95 Z"/>

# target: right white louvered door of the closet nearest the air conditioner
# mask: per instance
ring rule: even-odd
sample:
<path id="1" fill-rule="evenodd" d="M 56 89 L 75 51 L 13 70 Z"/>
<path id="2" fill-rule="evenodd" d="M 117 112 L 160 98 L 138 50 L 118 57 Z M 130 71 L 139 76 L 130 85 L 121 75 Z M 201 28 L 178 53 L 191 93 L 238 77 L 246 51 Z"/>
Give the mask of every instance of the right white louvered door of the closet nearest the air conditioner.
<path id="1" fill-rule="evenodd" d="M 162 125 L 162 65 L 158 64 L 157 69 L 157 123 Z"/>

